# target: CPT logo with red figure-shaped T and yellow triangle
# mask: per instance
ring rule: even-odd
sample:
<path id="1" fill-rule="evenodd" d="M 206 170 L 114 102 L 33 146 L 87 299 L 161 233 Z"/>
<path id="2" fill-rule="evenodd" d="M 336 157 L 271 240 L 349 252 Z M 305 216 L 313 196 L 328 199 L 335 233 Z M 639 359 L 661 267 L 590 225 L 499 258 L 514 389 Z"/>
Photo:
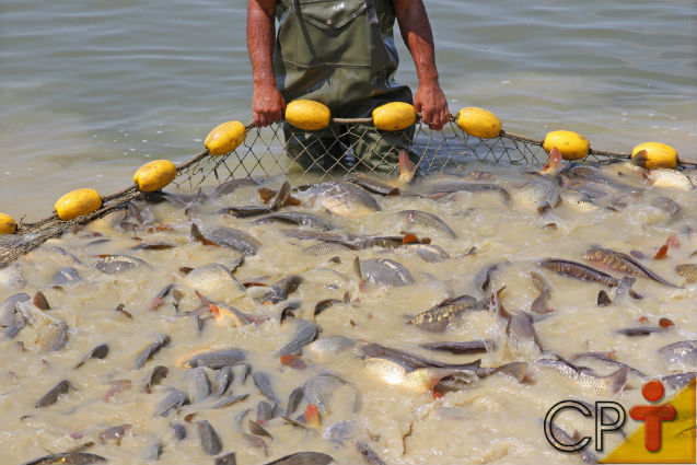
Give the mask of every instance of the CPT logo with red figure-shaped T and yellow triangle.
<path id="1" fill-rule="evenodd" d="M 660 381 L 650 381 L 641 388 L 643 398 L 651 404 L 629 409 L 629 417 L 638 429 L 601 463 L 695 463 L 695 380 L 671 402 L 659 405 L 665 388 Z M 592 406 L 591 406 L 592 408 Z M 561 452 L 580 452 L 592 438 L 565 433 L 555 422 L 562 410 L 572 409 L 584 417 L 593 412 L 588 404 L 562 400 L 554 405 L 545 416 L 545 437 L 549 444 Z M 595 403 L 595 451 L 603 451 L 606 433 L 618 432 L 627 421 L 625 408 L 616 402 Z"/>

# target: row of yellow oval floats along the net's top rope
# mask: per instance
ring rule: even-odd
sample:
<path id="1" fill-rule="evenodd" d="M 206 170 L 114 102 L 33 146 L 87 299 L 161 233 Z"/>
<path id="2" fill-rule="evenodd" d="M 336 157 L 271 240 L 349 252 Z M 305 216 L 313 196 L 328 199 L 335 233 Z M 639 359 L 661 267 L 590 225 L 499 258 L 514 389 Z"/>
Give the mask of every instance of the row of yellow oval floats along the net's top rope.
<path id="1" fill-rule="evenodd" d="M 417 114 L 413 105 L 404 102 L 392 102 L 373 111 L 373 124 L 377 129 L 397 131 L 416 123 Z M 329 125 L 329 108 L 320 102 L 298 100 L 288 104 L 286 120 L 303 130 L 320 130 Z M 467 107 L 460 111 L 455 120 L 466 133 L 479 139 L 492 139 L 501 133 L 501 120 L 491 112 Z M 210 155 L 223 155 L 235 150 L 245 139 L 246 128 L 240 121 L 226 121 L 216 127 L 206 137 L 205 146 Z M 543 148 L 550 152 L 557 148 L 566 160 L 580 160 L 589 154 L 588 139 L 578 132 L 557 130 L 547 133 Z M 669 167 L 677 165 L 677 152 L 670 146 L 660 142 L 644 142 L 631 151 L 634 158 L 641 153 L 641 165 L 647 168 Z M 169 160 L 155 160 L 142 165 L 133 175 L 133 183 L 144 193 L 160 190 L 176 177 L 176 166 Z M 92 213 L 102 207 L 102 197 L 94 189 L 72 190 L 56 201 L 54 208 L 58 218 L 69 221 Z M 0 213 L 0 234 L 16 231 L 16 222 L 5 213 Z"/>

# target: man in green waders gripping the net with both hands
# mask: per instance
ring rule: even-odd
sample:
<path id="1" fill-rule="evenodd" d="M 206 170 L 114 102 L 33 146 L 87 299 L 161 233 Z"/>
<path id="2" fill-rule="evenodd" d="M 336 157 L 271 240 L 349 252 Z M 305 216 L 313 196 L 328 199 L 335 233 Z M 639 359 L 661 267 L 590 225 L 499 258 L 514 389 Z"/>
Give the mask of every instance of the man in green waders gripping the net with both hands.
<path id="1" fill-rule="evenodd" d="M 394 82 L 395 18 L 416 65 L 414 102 L 411 90 Z M 400 101 L 414 103 L 432 129 L 450 118 L 422 0 L 249 0 L 247 47 L 257 126 L 281 120 L 286 102 L 297 98 L 324 103 L 333 117 L 369 117 L 383 103 Z M 303 168 L 346 165 L 347 153 L 369 171 L 393 171 L 399 150 L 418 161 L 410 150 L 414 127 L 387 132 L 350 125 L 307 132 L 286 124 L 283 131 L 288 154 Z"/>

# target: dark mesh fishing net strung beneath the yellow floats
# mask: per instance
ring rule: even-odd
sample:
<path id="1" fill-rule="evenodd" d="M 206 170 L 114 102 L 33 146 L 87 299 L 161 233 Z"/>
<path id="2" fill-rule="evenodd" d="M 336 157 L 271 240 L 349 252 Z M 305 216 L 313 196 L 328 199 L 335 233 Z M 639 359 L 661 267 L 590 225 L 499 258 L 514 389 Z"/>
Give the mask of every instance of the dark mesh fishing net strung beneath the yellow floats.
<path id="1" fill-rule="evenodd" d="M 293 182 L 322 181 L 353 172 L 394 175 L 398 172 L 396 153 L 408 150 L 423 174 L 457 170 L 473 160 L 492 164 L 542 166 L 548 160 L 543 141 L 501 131 L 492 139 L 479 139 L 462 131 L 454 118 L 442 130 L 431 130 L 417 121 L 414 130 L 388 132 L 372 126 L 371 118 L 334 118 L 321 139 L 311 133 L 289 131 L 287 124 L 265 128 L 246 126 L 244 142 L 233 152 L 212 156 L 207 150 L 177 166 L 173 185 L 196 190 L 207 184 L 235 178 L 291 176 Z M 291 149 L 292 150 L 289 150 Z M 584 162 L 601 164 L 626 160 L 629 153 L 591 149 Z M 104 214 L 126 208 L 142 196 L 132 185 L 104 196 L 102 208 L 61 221 L 53 214 L 33 223 L 20 222 L 16 234 L 0 239 L 0 268 L 32 248 L 66 231 Z"/>

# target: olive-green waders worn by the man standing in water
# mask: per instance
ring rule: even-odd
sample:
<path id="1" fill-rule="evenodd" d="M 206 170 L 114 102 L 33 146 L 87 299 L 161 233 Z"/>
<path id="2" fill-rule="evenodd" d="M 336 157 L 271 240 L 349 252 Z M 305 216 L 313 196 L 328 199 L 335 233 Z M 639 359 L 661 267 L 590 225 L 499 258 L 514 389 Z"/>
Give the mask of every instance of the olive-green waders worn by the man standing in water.
<path id="1" fill-rule="evenodd" d="M 395 12 L 391 0 L 279 0 L 274 70 L 287 102 L 322 102 L 338 118 L 370 117 L 388 102 L 411 103 L 394 82 Z M 288 155 L 303 170 L 357 168 L 394 172 L 398 151 L 413 162 L 414 127 L 381 131 L 370 125 L 330 125 L 304 131 L 283 125 Z"/>

